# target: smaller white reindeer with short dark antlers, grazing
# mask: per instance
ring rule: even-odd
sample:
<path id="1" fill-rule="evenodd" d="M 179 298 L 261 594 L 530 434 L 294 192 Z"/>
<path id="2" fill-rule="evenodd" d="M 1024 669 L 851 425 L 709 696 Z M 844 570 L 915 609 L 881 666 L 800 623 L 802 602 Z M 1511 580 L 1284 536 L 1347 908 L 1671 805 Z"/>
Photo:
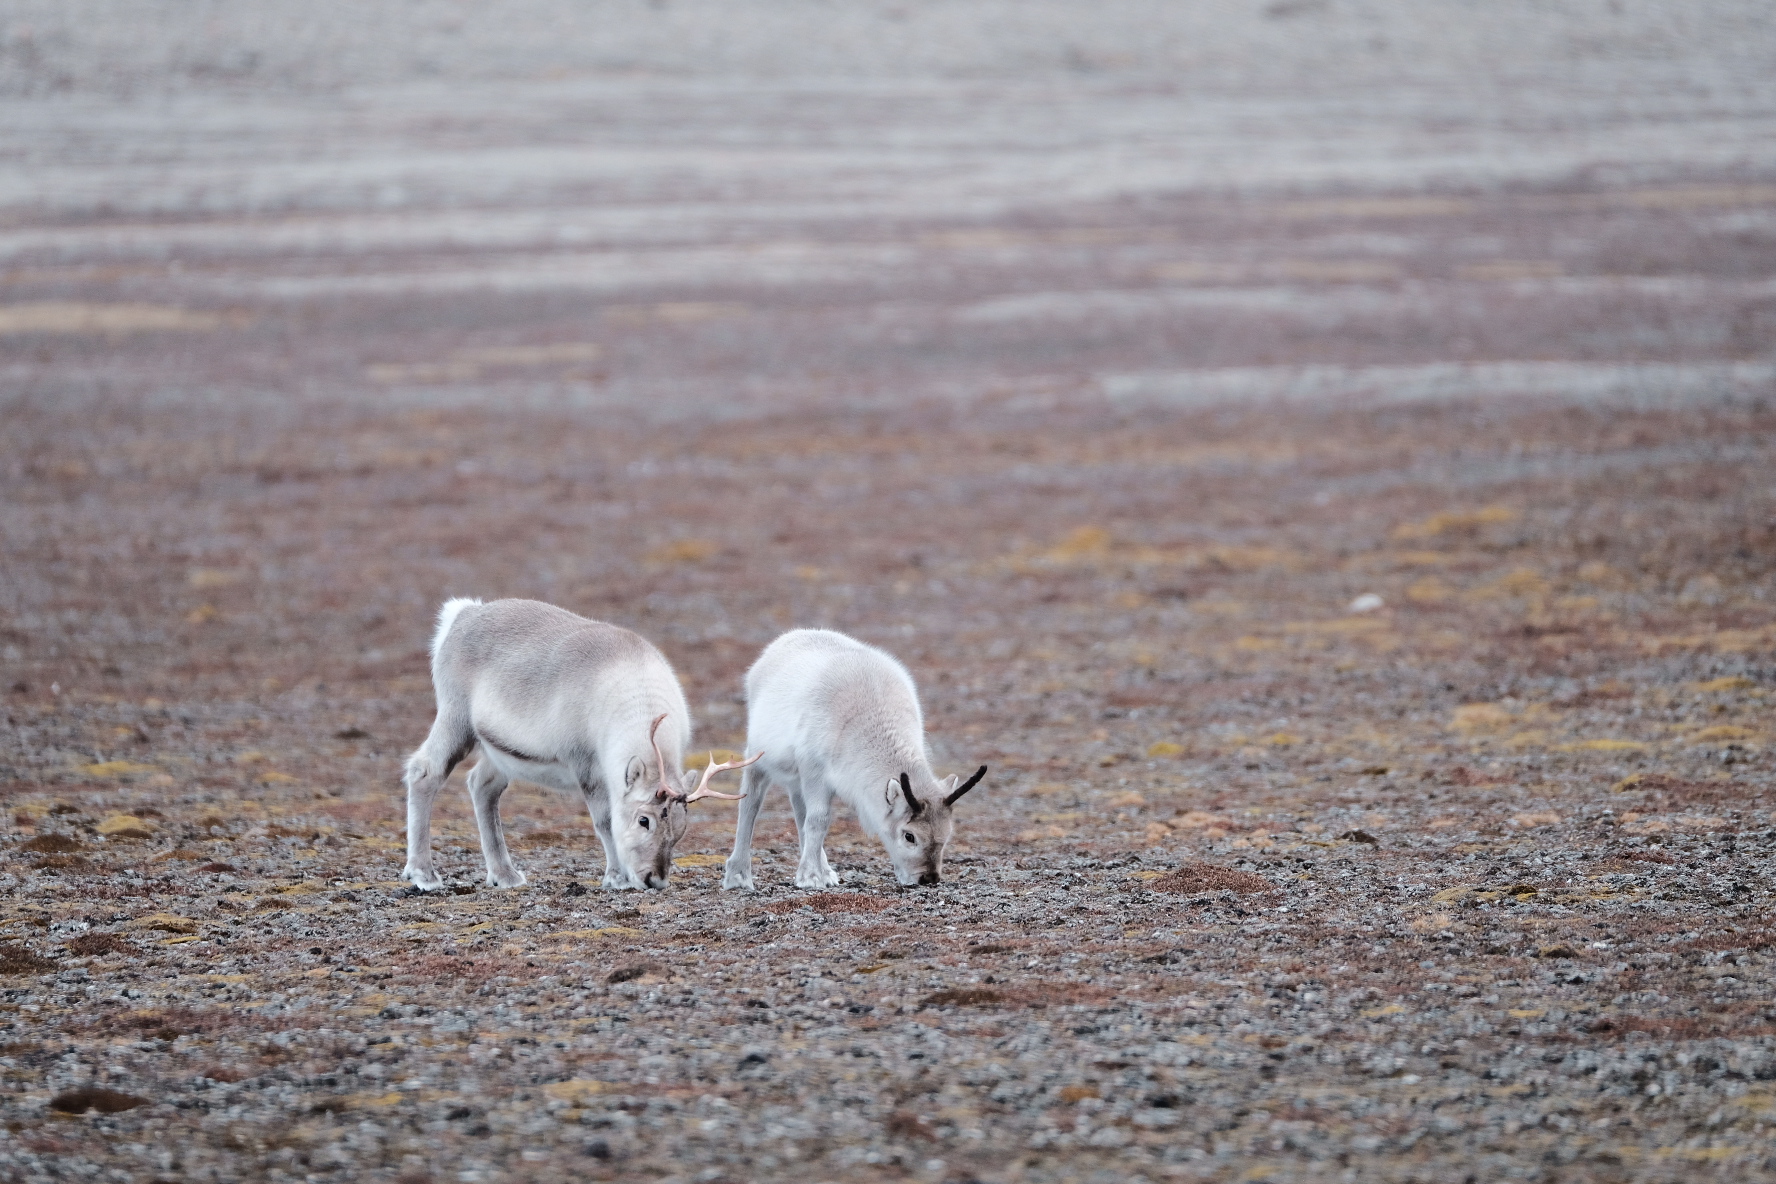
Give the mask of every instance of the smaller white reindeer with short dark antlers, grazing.
<path id="1" fill-rule="evenodd" d="M 833 799 L 888 849 L 900 884 L 943 879 L 955 802 L 986 776 L 938 779 L 913 676 L 893 657 L 826 628 L 783 634 L 746 673 L 746 747 L 771 756 L 746 770 L 723 888 L 753 888 L 753 825 L 765 792 L 789 792 L 801 834 L 799 888 L 831 888 Z M 757 756 L 753 760 L 758 760 Z"/>

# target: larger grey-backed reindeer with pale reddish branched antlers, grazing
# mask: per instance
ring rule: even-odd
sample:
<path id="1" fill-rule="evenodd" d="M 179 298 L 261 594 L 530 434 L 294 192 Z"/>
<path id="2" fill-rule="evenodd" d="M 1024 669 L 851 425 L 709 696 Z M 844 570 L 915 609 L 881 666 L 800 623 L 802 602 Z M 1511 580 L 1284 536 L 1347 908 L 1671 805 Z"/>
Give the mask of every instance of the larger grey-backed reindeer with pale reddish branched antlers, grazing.
<path id="1" fill-rule="evenodd" d="M 476 746 L 469 801 L 487 882 L 524 884 L 499 822 L 511 781 L 579 793 L 604 845 L 606 888 L 664 888 L 691 802 L 725 797 L 709 781 L 751 762 L 710 754 L 687 788 L 691 710 L 671 666 L 645 637 L 536 600 L 451 600 L 432 639 L 437 719 L 407 760 L 407 868 L 433 891 L 432 802 Z M 652 721 L 652 722 L 650 722 Z M 650 760 L 652 756 L 652 760 Z"/>

